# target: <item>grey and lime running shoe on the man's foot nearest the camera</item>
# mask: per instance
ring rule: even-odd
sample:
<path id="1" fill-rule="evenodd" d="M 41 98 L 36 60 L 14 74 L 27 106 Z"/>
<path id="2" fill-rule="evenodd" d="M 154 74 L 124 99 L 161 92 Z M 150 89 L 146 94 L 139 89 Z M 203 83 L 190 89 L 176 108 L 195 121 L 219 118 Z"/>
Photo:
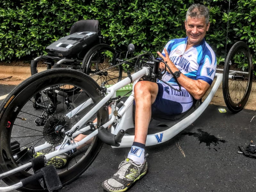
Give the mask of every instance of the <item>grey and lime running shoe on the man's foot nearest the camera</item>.
<path id="1" fill-rule="evenodd" d="M 119 164 L 118 171 L 108 180 L 102 182 L 102 187 L 109 192 L 123 192 L 132 186 L 132 183 L 142 178 L 148 170 L 148 163 L 136 164 L 126 158 Z"/>

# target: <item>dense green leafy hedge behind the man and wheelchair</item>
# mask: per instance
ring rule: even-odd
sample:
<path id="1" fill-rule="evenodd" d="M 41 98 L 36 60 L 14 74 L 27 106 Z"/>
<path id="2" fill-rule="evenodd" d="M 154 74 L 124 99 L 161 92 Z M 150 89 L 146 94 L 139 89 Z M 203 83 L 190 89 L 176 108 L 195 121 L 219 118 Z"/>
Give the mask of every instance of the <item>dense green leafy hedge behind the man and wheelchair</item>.
<path id="1" fill-rule="evenodd" d="M 238 40 L 252 52 L 256 49 L 256 0 L 231 1 L 230 6 L 229 0 L 0 0 L 0 60 L 46 54 L 47 45 L 68 35 L 82 19 L 99 20 L 105 42 L 116 49 L 133 43 L 137 50 L 156 53 L 169 39 L 185 36 L 185 15 L 192 3 L 210 9 L 206 40 L 218 61 L 225 58 L 226 42 L 227 50 Z"/>

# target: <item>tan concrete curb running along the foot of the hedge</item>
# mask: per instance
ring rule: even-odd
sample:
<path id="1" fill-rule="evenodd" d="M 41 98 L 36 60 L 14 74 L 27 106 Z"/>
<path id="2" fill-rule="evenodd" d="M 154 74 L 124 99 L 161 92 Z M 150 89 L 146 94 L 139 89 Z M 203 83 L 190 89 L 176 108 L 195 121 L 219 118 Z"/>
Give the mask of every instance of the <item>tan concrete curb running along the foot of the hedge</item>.
<path id="1" fill-rule="evenodd" d="M 44 64 L 38 63 L 38 71 L 46 70 Z M 17 85 L 30 76 L 30 61 L 17 60 L 12 63 L 0 61 L 0 84 Z M 207 95 L 207 93 L 206 93 Z M 205 97 L 204 97 L 205 98 Z M 204 100 L 203 98 L 203 100 Z M 252 83 L 250 97 L 245 109 L 256 110 L 256 82 Z M 210 104 L 226 107 L 222 94 L 222 85 L 218 88 Z"/>

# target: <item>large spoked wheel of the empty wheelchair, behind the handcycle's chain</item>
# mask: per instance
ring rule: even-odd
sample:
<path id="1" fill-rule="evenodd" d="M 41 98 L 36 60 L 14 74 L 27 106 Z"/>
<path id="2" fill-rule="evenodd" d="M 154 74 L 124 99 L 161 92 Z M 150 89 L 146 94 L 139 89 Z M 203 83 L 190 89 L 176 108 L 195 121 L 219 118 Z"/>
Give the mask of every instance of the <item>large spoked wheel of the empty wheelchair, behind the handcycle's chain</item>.
<path id="1" fill-rule="evenodd" d="M 83 72 L 91 76 L 98 71 L 102 71 L 115 65 L 115 63 L 111 63 L 114 54 L 115 49 L 108 44 L 97 44 L 93 46 L 84 56 L 82 62 Z M 92 78 L 99 85 L 103 82 L 105 82 L 105 84 L 115 84 L 122 80 L 122 66 L 119 65 L 105 70 L 100 74 L 92 76 Z"/>

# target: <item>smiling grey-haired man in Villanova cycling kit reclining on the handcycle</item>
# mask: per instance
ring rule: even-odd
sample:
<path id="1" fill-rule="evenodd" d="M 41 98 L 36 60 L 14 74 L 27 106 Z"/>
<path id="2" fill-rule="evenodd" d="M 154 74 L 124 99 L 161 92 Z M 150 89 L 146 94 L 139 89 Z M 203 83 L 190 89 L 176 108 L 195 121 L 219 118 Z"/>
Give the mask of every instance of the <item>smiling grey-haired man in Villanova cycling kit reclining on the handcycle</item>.
<path id="1" fill-rule="evenodd" d="M 112 178 L 102 182 L 105 190 L 125 191 L 146 174 L 148 164 L 144 154 L 151 114 L 168 116 L 185 112 L 192 106 L 193 98 L 201 99 L 211 86 L 216 71 L 216 57 L 204 40 L 209 27 L 208 8 L 193 4 L 188 8 L 185 20 L 187 37 L 173 39 L 165 45 L 162 53 L 157 52 L 170 67 L 182 86 L 182 92 L 185 91 L 186 94 L 174 94 L 172 87 L 162 82 L 140 81 L 135 85 L 134 142 L 118 171 Z M 164 64 L 160 68 L 164 70 Z M 168 69 L 162 79 L 177 87 Z"/>

